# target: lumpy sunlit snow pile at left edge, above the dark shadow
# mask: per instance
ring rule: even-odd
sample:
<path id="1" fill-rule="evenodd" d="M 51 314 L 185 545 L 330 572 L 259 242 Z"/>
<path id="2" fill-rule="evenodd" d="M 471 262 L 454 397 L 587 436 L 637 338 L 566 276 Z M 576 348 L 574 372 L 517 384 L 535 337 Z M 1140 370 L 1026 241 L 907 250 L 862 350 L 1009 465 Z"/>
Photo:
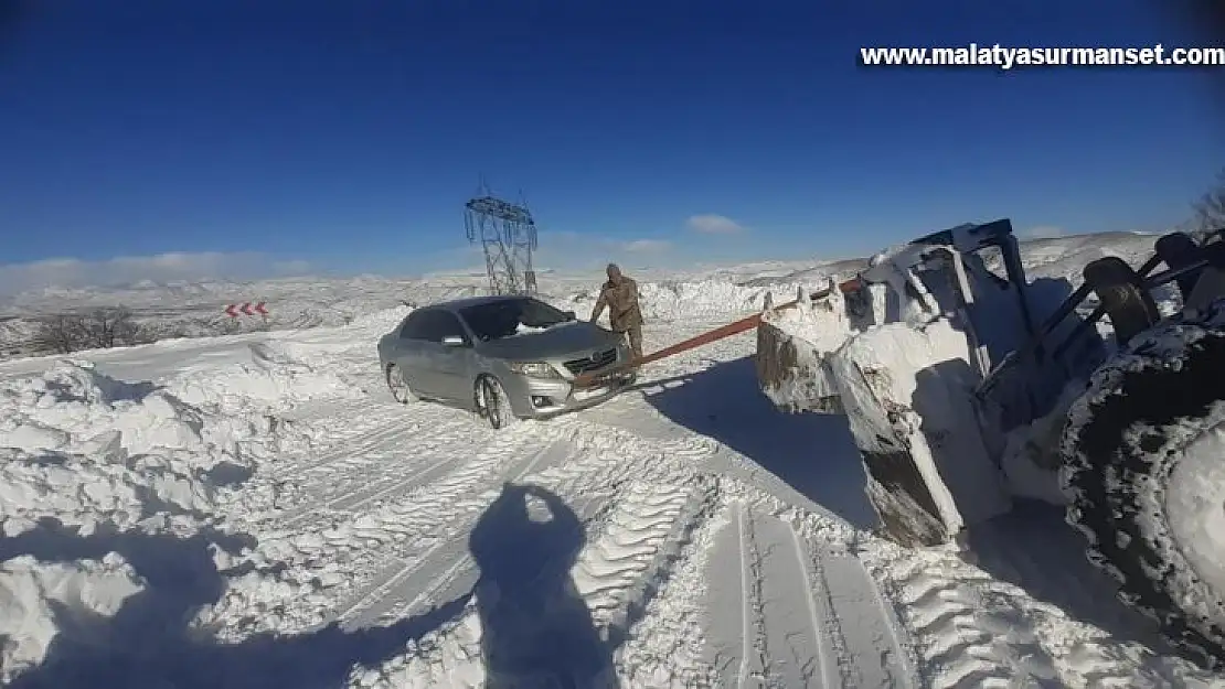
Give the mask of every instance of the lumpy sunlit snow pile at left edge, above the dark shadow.
<path id="1" fill-rule="evenodd" d="M 249 475 L 257 458 L 283 449 L 283 431 L 267 417 L 209 415 L 81 363 L 5 381 L 0 523 L 15 536 L 48 516 L 124 530 L 156 513 L 212 513 L 218 486 L 209 479 Z"/>

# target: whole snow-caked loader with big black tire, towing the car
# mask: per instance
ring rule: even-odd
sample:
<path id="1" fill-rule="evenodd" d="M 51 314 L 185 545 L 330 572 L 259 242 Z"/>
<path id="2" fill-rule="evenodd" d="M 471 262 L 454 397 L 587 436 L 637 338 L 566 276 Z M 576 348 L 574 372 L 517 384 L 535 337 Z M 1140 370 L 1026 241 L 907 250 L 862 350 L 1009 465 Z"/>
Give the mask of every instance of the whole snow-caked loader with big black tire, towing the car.
<path id="1" fill-rule="evenodd" d="M 1082 274 L 1028 280 L 1007 219 L 920 237 L 768 304 L 761 389 L 845 415 L 882 536 L 1055 503 L 1125 602 L 1225 666 L 1225 242 L 1172 233 Z"/>

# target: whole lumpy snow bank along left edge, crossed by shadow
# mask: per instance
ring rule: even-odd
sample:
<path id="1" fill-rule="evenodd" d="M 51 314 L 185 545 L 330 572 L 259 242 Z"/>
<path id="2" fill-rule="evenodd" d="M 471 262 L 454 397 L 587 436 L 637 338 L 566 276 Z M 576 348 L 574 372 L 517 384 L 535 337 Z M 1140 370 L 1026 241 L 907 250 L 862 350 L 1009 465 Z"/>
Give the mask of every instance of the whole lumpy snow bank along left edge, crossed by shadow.
<path id="1" fill-rule="evenodd" d="M 225 382 L 203 397 L 224 395 Z M 83 362 L 0 381 L 0 679 L 40 663 L 58 634 L 104 634 L 142 589 L 109 548 L 184 542 L 219 514 L 265 509 L 274 496 L 235 485 L 304 439 L 274 417 L 209 411 Z M 96 559 L 77 559 L 97 542 Z"/>

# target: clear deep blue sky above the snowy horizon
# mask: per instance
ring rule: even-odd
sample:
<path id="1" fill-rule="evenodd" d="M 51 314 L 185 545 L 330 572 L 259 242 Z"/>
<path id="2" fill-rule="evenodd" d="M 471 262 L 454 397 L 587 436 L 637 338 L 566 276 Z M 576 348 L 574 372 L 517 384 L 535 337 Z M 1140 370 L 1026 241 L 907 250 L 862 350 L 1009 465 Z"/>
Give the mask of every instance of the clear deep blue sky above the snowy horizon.
<path id="1" fill-rule="evenodd" d="M 0 27 L 0 286 L 472 266 L 480 175 L 546 267 L 1163 229 L 1225 165 L 1208 73 L 858 56 L 1194 45 L 1169 5 L 28 0 Z"/>

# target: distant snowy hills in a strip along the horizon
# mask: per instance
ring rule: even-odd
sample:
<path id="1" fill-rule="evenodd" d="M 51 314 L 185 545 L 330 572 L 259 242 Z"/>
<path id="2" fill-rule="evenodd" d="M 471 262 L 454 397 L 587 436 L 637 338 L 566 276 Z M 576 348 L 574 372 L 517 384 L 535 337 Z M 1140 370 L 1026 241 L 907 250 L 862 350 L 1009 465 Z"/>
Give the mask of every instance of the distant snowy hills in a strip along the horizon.
<path id="1" fill-rule="evenodd" d="M 1152 250 L 1152 237 L 1133 234 L 1093 235 L 1031 240 L 1024 244 L 1038 277 L 1068 275 L 1079 281 L 1079 270 L 1104 252 L 1121 255 L 1136 263 Z M 712 266 L 685 272 L 631 270 L 644 283 L 668 289 L 677 284 L 718 283 L 720 285 L 778 286 L 802 283 L 815 285 L 829 274 L 848 275 L 864 266 L 864 259 L 763 261 L 740 266 Z M 599 284 L 597 274 L 570 274 L 543 270 L 540 289 L 552 301 L 573 301 L 589 295 Z M 281 278 L 256 281 L 167 283 L 142 281 L 119 288 L 48 288 L 16 295 L 0 295 L 0 361 L 38 354 L 38 318 L 59 313 L 88 312 L 99 307 L 124 306 L 149 339 L 196 338 L 263 330 L 304 329 L 342 326 L 403 304 L 425 304 L 483 294 L 484 273 L 461 272 L 424 278 Z M 589 297 L 588 297 L 589 299 Z M 232 304 L 266 302 L 267 317 L 225 315 Z M 671 305 L 675 307 L 676 305 Z M 718 304 L 731 310 L 731 305 Z M 659 313 L 670 317 L 669 305 Z M 708 308 L 709 311 L 709 308 Z M 712 312 L 713 313 L 713 312 Z"/>

